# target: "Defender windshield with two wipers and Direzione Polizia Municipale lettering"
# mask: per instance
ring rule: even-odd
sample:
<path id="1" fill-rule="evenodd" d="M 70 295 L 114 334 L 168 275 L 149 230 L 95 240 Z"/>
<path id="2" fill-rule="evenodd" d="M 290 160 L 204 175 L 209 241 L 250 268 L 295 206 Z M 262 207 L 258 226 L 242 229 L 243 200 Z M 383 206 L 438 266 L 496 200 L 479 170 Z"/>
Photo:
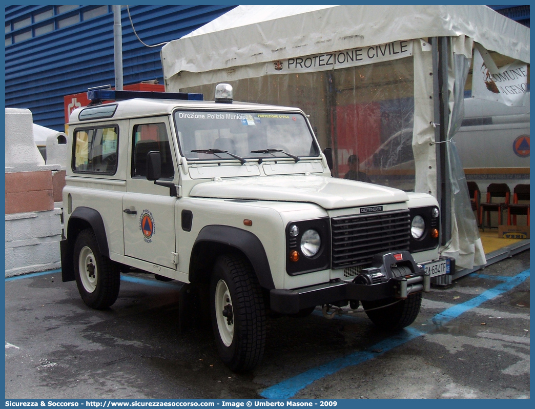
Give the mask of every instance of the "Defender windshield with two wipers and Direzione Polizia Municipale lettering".
<path id="1" fill-rule="evenodd" d="M 297 161 L 320 155 L 307 120 L 296 112 L 175 111 L 174 121 L 188 160 Z"/>

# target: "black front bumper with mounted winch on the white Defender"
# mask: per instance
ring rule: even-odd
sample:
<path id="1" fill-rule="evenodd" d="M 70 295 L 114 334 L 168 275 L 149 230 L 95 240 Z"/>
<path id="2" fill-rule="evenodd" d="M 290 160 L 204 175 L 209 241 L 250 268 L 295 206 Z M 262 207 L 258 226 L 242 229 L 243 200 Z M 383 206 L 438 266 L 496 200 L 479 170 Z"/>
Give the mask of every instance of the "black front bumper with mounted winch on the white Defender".
<path id="1" fill-rule="evenodd" d="M 351 282 L 336 279 L 300 289 L 271 290 L 270 306 L 274 312 L 297 314 L 304 308 L 340 301 L 403 299 L 411 293 L 429 292 L 430 287 L 429 272 L 408 251 L 388 252 L 373 256 L 372 267 L 362 269 Z"/>

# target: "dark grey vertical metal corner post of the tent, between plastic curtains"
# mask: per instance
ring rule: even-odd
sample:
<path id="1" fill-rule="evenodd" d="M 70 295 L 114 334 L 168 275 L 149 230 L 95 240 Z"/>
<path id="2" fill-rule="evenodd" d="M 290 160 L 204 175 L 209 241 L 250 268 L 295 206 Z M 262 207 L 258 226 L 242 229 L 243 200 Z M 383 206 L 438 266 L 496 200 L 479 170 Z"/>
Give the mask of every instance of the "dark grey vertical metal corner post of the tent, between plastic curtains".
<path id="1" fill-rule="evenodd" d="M 433 37 L 433 100 L 435 142 L 448 139 L 449 93 L 448 93 L 448 39 Z M 446 142 L 447 143 L 447 142 Z M 437 200 L 440 205 L 440 243 L 446 245 L 452 237 L 452 202 L 447 161 L 446 143 L 436 143 L 437 155 Z"/>

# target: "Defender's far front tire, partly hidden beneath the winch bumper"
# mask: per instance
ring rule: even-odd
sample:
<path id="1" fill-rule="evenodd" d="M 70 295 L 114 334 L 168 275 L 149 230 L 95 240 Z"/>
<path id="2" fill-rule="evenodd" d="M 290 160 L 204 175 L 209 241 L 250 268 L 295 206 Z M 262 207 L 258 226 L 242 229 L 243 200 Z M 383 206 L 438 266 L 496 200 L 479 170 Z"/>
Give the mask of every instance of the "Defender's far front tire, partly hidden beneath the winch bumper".
<path id="1" fill-rule="evenodd" d="M 395 298 L 379 301 L 362 301 L 362 307 L 368 318 L 377 327 L 385 330 L 399 330 L 408 327 L 416 320 L 422 304 L 422 293 L 410 294 L 406 299 L 396 301 L 398 300 Z M 392 304 L 393 302 L 395 304 Z M 384 305 L 388 306 L 379 308 Z"/>

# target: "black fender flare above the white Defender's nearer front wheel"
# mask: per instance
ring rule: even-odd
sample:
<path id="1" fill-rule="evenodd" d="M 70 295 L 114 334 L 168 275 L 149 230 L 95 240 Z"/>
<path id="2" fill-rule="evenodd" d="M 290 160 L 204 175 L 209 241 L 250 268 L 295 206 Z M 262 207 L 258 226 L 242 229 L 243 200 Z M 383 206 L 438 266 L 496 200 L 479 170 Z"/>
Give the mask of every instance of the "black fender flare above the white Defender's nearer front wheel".
<path id="1" fill-rule="evenodd" d="M 195 239 L 189 260 L 190 282 L 196 281 L 202 275 L 202 272 L 195 268 L 195 255 L 197 252 L 202 252 L 203 246 L 209 248 L 212 245 L 238 249 L 247 257 L 253 266 L 260 285 L 268 290 L 275 288 L 268 256 L 266 255 L 262 241 L 250 231 L 218 224 L 204 226 Z"/>

